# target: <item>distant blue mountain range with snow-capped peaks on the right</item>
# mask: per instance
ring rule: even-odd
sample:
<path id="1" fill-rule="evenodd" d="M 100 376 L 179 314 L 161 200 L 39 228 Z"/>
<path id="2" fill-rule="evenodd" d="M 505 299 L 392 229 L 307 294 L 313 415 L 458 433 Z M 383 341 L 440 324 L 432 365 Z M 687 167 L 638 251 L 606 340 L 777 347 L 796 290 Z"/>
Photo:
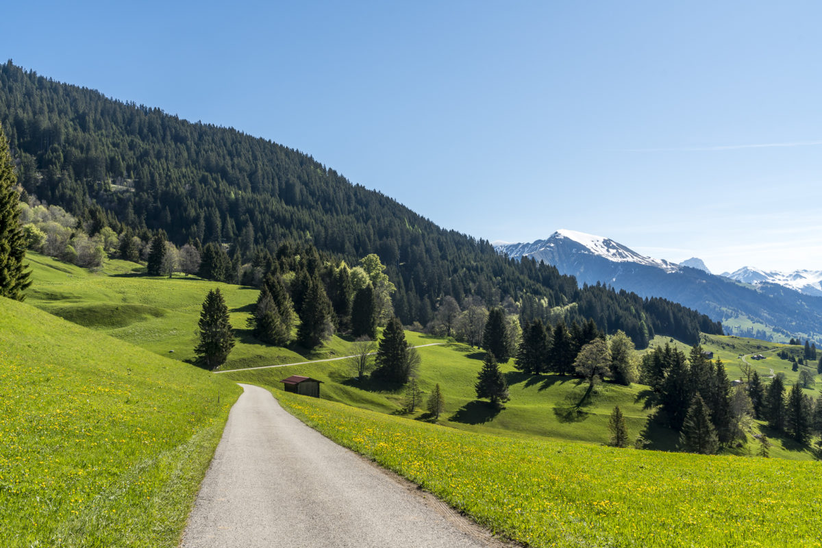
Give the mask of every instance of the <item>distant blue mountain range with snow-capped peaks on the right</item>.
<path id="1" fill-rule="evenodd" d="M 795 336 L 822 339 L 822 272 L 746 268 L 720 276 L 695 257 L 677 265 L 643 256 L 607 237 L 565 229 L 537 242 L 494 246 L 515 259 L 554 265 L 580 284 L 603 283 L 680 302 L 721 320 L 733 334 L 779 341 Z"/>

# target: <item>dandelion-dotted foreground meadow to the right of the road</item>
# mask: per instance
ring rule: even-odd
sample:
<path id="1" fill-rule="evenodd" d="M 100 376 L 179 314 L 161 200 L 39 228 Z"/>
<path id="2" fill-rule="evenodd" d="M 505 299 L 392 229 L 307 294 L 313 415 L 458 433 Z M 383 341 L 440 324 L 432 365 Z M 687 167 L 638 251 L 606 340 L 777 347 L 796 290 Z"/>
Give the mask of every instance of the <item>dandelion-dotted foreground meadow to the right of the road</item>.
<path id="1" fill-rule="evenodd" d="M 822 546 L 820 463 L 511 440 L 275 396 L 332 440 L 529 546 Z"/>

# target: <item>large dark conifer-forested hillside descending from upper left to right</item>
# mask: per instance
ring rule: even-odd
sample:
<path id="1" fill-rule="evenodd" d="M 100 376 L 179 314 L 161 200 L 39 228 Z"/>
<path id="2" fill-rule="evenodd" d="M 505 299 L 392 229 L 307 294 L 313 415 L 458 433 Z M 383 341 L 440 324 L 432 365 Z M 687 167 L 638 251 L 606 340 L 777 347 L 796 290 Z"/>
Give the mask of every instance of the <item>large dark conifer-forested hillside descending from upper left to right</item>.
<path id="1" fill-rule="evenodd" d="M 289 249 L 350 264 L 376 253 L 406 325 L 427 325 L 444 297 L 466 307 L 473 296 L 486 306 L 510 297 L 524 320 L 593 318 L 640 347 L 654 334 L 693 343 L 699 331 L 722 332 L 676 303 L 578 288 L 552 266 L 499 256 L 298 150 L 108 99 L 11 61 L 0 67 L 0 123 L 25 192 L 65 208 L 90 237 L 108 227 L 121 242 L 149 242 L 163 231 L 178 246 L 221 244 L 235 266 L 259 267 L 261 254 L 282 259 Z"/>

